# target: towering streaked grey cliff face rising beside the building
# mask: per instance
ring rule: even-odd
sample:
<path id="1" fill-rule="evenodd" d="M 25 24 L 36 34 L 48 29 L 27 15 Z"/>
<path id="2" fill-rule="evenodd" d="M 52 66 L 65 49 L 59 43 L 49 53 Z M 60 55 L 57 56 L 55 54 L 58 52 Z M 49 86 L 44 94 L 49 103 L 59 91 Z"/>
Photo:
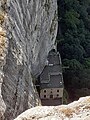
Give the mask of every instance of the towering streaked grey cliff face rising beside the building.
<path id="1" fill-rule="evenodd" d="M 0 1 L 0 119 L 38 104 L 32 83 L 55 47 L 56 0 Z"/>

